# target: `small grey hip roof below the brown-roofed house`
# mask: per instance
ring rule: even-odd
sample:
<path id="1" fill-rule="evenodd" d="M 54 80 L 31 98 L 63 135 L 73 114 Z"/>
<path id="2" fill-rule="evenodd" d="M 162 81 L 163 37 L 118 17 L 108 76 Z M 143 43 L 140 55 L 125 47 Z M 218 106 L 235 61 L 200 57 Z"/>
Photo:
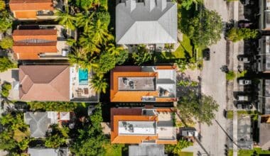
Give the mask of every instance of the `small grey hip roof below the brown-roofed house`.
<path id="1" fill-rule="evenodd" d="M 45 138 L 46 131 L 50 125 L 50 118 L 47 112 L 26 112 L 24 113 L 26 124 L 30 126 L 32 138 Z"/>

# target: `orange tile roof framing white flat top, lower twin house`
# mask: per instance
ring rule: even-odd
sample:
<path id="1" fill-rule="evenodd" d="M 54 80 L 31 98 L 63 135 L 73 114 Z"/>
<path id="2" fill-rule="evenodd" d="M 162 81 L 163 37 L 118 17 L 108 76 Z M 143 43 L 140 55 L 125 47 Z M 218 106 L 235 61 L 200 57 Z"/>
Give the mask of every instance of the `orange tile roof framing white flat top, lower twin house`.
<path id="1" fill-rule="evenodd" d="M 171 108 L 157 108 L 171 112 Z M 142 108 L 111 108 L 111 143 L 140 144 L 142 140 L 156 140 L 158 144 L 176 144 L 176 140 L 158 140 L 156 135 L 119 135 L 119 121 L 157 121 L 158 116 L 142 116 Z"/>

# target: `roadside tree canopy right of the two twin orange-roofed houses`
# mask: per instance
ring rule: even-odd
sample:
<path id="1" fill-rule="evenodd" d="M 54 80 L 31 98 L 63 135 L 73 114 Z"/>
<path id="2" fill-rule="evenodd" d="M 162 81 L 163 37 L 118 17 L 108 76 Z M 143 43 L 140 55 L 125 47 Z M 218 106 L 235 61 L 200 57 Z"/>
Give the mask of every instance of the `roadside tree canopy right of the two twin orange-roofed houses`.
<path id="1" fill-rule="evenodd" d="M 180 116 L 182 116 L 183 120 L 192 120 L 192 118 L 195 118 L 201 123 L 211 125 L 212 119 L 215 118 L 215 111 L 218 110 L 218 106 L 217 102 L 212 99 L 212 96 L 202 94 L 202 99 L 199 99 L 194 91 L 189 91 L 188 95 L 180 98 L 177 108 L 180 111 Z"/>

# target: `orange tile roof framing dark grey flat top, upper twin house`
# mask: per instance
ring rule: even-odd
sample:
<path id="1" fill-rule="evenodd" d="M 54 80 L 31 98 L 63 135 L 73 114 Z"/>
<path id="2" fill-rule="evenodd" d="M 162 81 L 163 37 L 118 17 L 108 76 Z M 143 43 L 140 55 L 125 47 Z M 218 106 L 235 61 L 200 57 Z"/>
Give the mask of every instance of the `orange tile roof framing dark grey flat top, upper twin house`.
<path id="1" fill-rule="evenodd" d="M 156 66 L 157 69 L 175 69 L 174 66 Z M 111 71 L 110 100 L 112 102 L 141 102 L 142 96 L 158 96 L 158 91 L 119 91 L 119 77 L 158 77 L 158 72 L 141 72 L 141 67 L 117 66 Z M 175 98 L 158 97 L 156 102 L 172 102 Z"/>

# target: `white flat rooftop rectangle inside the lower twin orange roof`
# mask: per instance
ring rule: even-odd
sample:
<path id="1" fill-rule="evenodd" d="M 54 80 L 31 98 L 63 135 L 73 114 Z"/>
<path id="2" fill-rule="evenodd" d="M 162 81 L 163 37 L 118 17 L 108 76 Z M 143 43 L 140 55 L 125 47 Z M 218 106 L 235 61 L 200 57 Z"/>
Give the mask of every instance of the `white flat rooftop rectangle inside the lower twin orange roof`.
<path id="1" fill-rule="evenodd" d="M 119 135 L 156 135 L 156 121 L 118 121 Z"/>

